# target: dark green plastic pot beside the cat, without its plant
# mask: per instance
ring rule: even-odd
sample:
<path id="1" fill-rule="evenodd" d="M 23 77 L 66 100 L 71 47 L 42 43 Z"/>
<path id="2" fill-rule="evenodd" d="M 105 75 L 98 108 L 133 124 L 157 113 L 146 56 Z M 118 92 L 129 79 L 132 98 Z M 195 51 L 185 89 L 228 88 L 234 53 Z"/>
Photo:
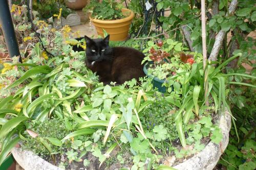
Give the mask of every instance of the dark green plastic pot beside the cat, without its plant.
<path id="1" fill-rule="evenodd" d="M 147 62 L 144 66 L 143 66 L 143 71 L 145 73 L 145 75 L 147 77 L 150 77 L 150 78 L 153 78 L 153 88 L 158 88 L 158 91 L 162 92 L 162 93 L 165 93 L 166 92 L 166 87 L 165 86 L 162 86 L 163 83 L 166 81 L 166 80 L 161 80 L 157 77 L 154 77 L 152 75 L 148 75 L 148 72 L 147 72 L 147 69 L 148 67 L 150 66 L 150 64 L 153 64 L 153 61 L 149 61 Z"/>

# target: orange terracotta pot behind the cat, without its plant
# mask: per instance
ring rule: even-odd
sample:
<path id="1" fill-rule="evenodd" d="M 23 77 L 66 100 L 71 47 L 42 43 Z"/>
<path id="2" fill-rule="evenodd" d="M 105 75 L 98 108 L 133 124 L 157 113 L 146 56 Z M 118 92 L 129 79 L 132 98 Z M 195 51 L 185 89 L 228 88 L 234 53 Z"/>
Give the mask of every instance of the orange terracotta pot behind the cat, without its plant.
<path id="1" fill-rule="evenodd" d="M 127 38 L 134 13 L 130 9 L 123 8 L 122 13 L 127 17 L 117 20 L 91 19 L 98 35 L 103 37 L 103 29 L 110 34 L 111 41 L 123 41 Z"/>

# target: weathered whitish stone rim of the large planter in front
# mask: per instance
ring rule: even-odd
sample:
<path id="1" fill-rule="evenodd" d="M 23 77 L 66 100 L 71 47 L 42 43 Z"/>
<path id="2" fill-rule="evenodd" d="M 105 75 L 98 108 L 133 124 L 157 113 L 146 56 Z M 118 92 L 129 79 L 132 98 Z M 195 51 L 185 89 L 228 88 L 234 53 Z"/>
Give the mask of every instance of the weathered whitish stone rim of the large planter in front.
<path id="1" fill-rule="evenodd" d="M 213 169 L 228 144 L 231 128 L 231 116 L 229 112 L 225 111 L 225 114 L 219 117 L 219 127 L 223 134 L 220 144 L 210 141 L 203 151 L 174 166 L 174 168 L 181 170 Z M 62 168 L 47 162 L 31 151 L 22 151 L 20 148 L 13 148 L 12 155 L 17 163 L 26 170 L 62 170 Z"/>

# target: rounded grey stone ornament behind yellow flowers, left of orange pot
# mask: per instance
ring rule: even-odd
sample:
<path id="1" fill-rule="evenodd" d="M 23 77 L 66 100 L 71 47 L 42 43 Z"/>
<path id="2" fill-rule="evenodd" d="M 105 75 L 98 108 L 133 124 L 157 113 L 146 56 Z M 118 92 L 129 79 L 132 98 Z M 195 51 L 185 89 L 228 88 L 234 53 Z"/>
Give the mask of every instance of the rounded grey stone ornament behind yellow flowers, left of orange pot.
<path id="1" fill-rule="evenodd" d="M 81 24 L 81 18 L 77 13 L 69 14 L 67 18 L 61 17 L 62 26 L 78 26 Z M 61 29 L 61 22 L 54 18 L 53 27 L 57 30 Z"/>

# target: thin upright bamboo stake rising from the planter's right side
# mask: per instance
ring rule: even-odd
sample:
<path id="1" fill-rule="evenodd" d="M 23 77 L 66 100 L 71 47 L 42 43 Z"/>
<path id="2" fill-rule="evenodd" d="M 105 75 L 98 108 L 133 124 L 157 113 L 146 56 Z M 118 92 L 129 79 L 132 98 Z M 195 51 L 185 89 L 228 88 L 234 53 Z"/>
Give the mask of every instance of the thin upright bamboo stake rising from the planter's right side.
<path id="1" fill-rule="evenodd" d="M 207 80 L 207 68 L 206 68 L 206 62 L 207 62 L 207 50 L 206 50 L 206 19 L 205 19 L 205 0 L 201 0 L 201 16 L 202 16 L 202 42 L 203 42 L 203 66 L 205 70 L 204 74 L 204 96 L 206 98 L 206 94 L 208 91 L 208 80 Z M 209 106 L 208 98 L 205 99 L 205 105 Z"/>

